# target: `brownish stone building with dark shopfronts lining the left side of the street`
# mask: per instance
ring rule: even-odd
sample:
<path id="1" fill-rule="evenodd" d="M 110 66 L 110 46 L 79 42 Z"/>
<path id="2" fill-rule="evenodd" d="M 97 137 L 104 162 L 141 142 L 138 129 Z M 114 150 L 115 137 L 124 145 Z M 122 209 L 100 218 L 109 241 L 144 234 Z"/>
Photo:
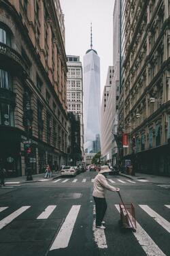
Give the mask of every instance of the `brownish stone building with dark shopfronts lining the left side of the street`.
<path id="1" fill-rule="evenodd" d="M 67 159 L 67 59 L 59 0 L 0 1 L 0 158 L 7 175 Z"/>

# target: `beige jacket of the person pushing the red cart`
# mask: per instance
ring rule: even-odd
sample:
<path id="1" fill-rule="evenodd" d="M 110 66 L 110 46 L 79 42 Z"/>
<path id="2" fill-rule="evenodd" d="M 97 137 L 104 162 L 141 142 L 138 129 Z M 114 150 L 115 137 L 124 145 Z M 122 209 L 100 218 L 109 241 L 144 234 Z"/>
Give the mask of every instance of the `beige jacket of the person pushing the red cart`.
<path id="1" fill-rule="evenodd" d="M 114 192 L 116 191 L 114 186 L 108 184 L 105 176 L 101 173 L 98 173 L 94 180 L 92 196 L 105 198 L 107 189 Z"/>

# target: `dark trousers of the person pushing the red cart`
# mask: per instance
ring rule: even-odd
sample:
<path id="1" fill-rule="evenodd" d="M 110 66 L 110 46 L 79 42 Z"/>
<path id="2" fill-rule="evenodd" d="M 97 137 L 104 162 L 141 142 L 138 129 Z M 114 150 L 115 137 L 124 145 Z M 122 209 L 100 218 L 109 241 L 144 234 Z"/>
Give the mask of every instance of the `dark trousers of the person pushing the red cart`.
<path id="1" fill-rule="evenodd" d="M 105 216 L 105 212 L 107 210 L 107 203 L 105 198 L 93 197 L 96 205 L 96 225 L 101 226 L 101 221 Z"/>

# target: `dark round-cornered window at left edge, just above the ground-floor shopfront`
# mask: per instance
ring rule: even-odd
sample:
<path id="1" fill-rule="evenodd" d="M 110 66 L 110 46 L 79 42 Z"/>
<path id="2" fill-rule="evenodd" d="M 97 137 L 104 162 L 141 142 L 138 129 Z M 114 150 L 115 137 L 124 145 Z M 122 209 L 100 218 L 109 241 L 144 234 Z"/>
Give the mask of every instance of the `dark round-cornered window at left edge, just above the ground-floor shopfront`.
<path id="1" fill-rule="evenodd" d="M 9 104 L 0 104 L 0 124 L 3 126 L 14 126 L 14 110 Z"/>

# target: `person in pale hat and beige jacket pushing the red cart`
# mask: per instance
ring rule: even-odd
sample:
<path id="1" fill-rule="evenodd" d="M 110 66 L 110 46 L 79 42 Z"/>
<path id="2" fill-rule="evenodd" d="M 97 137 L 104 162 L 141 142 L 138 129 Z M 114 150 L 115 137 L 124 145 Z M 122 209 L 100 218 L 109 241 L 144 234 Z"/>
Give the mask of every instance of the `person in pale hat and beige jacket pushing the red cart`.
<path id="1" fill-rule="evenodd" d="M 93 183 L 92 196 L 94 198 L 96 208 L 96 227 L 99 229 L 105 229 L 105 226 L 103 226 L 103 224 L 105 224 L 103 218 L 107 210 L 107 203 L 105 200 L 106 190 L 111 190 L 113 192 L 118 192 L 120 190 L 120 188 L 115 188 L 114 186 L 108 184 L 106 176 L 110 171 L 111 170 L 107 165 L 101 166 L 101 170 L 95 177 Z"/>

